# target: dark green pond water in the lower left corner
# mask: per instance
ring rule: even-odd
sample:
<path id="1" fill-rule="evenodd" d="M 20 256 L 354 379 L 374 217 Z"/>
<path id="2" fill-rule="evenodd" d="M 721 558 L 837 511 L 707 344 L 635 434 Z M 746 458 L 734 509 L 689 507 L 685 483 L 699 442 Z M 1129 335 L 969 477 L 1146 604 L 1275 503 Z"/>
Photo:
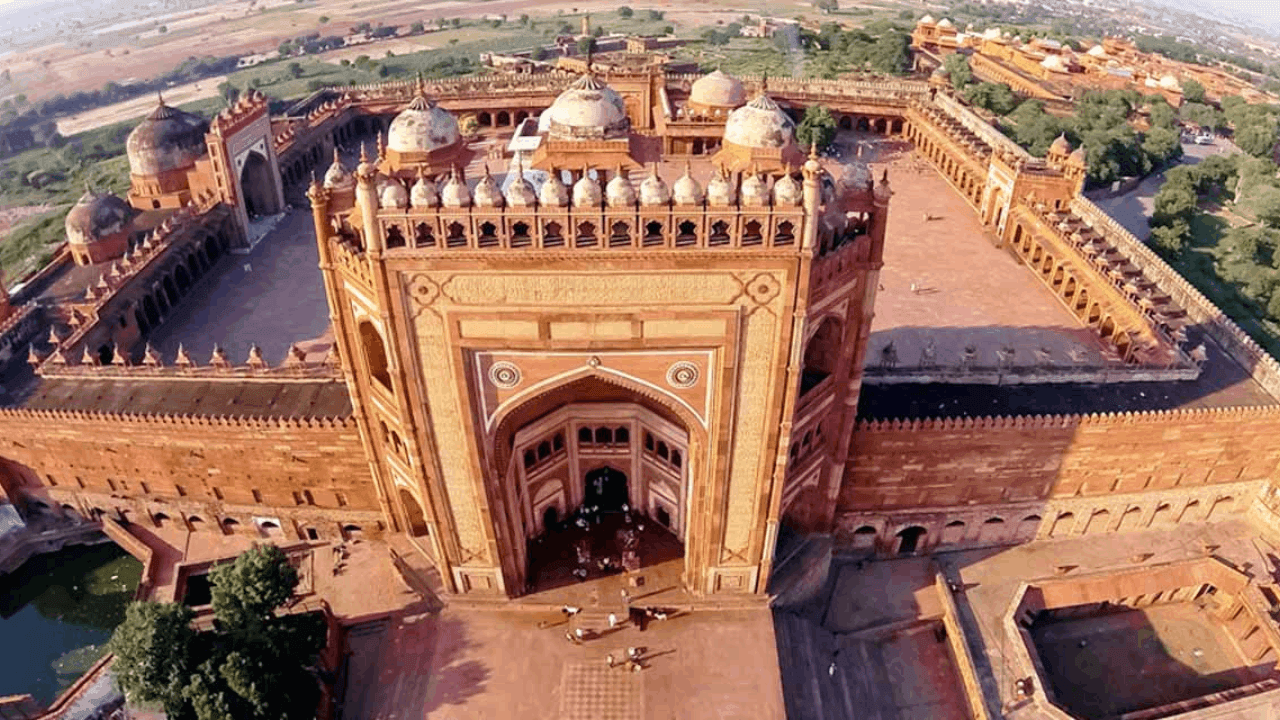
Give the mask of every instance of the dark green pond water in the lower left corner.
<path id="1" fill-rule="evenodd" d="M 52 702 L 106 653 L 141 578 L 114 543 L 38 555 L 0 577 L 0 697 Z"/>

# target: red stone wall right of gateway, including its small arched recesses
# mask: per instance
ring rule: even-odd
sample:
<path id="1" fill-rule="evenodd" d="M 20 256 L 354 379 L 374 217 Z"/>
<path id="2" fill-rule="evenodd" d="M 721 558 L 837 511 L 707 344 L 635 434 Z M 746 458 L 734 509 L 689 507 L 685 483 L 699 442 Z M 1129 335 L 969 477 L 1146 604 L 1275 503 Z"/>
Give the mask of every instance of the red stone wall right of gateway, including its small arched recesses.
<path id="1" fill-rule="evenodd" d="M 1270 493 L 1277 464 L 1277 407 L 863 421 L 837 538 L 922 524 L 936 544 L 964 521 L 948 543 L 988 544 L 1029 539 L 1032 516 L 1038 537 L 1220 520 Z M 995 516 L 1002 533 L 973 527 Z"/>

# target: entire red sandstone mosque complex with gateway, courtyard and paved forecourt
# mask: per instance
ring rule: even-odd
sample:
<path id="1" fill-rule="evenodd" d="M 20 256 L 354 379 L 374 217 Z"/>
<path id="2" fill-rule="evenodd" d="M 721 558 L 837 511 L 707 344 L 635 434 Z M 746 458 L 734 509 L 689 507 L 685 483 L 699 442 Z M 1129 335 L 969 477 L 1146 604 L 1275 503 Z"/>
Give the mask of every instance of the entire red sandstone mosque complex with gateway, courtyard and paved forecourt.
<path id="1" fill-rule="evenodd" d="M 101 525 L 152 600 L 312 557 L 351 717 L 1280 707 L 1280 365 L 1083 151 L 938 74 L 634 45 L 280 117 L 161 99 L 127 197 L 0 305 L 0 500 Z"/>

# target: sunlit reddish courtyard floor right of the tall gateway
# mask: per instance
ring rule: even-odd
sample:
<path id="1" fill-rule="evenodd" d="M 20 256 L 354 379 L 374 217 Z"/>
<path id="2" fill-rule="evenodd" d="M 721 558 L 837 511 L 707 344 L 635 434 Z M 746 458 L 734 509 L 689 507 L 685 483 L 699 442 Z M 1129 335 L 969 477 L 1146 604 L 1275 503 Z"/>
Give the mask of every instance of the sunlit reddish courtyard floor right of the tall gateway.
<path id="1" fill-rule="evenodd" d="M 993 366 L 996 351 L 1014 347 L 1014 365 L 1033 365 L 1047 350 L 1059 363 L 1071 354 L 1102 364 L 1103 342 L 1007 251 L 997 249 L 965 199 L 910 143 L 842 133 L 846 154 L 888 169 L 893 199 L 884 266 L 867 364 L 893 343 L 899 361 L 915 366 L 932 341 L 940 365 L 959 366 L 965 347 L 975 364 Z M 928 219 L 927 219 L 928 218 Z"/>

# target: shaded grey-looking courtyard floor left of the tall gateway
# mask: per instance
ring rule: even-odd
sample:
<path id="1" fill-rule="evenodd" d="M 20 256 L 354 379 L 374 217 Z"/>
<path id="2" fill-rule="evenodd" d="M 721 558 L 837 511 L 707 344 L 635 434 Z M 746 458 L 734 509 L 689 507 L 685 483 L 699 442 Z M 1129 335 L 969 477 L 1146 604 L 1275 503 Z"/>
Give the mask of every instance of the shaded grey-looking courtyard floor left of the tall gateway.
<path id="1" fill-rule="evenodd" d="M 328 327 L 315 227 L 311 213 L 297 208 L 247 255 L 221 258 L 148 340 L 166 363 L 182 345 L 201 365 L 215 343 L 236 365 L 257 343 L 274 366 L 289 345 L 317 338 Z"/>

